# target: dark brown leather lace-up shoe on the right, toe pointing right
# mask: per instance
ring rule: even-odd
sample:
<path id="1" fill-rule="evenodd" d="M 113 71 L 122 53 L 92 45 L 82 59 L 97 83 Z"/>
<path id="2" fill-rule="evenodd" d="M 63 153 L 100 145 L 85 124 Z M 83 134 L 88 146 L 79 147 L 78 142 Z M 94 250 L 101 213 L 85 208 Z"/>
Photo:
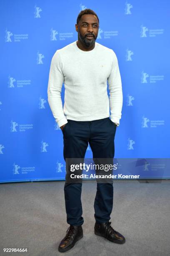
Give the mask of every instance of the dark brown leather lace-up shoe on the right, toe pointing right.
<path id="1" fill-rule="evenodd" d="M 95 235 L 102 236 L 113 243 L 125 243 L 125 238 L 111 227 L 111 222 L 95 223 Z"/>

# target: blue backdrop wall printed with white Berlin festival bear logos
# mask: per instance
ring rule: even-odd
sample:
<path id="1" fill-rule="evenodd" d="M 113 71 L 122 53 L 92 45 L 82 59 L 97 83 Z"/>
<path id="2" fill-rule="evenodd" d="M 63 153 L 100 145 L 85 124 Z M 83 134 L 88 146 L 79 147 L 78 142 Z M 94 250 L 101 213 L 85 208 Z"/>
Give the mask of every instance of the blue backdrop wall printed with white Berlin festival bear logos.
<path id="1" fill-rule="evenodd" d="M 123 108 L 115 157 L 170 157 L 168 0 L 0 1 L 0 182 L 65 179 L 63 136 L 47 83 L 53 54 L 77 40 L 77 15 L 85 8 L 99 17 L 96 41 L 119 62 Z"/>

